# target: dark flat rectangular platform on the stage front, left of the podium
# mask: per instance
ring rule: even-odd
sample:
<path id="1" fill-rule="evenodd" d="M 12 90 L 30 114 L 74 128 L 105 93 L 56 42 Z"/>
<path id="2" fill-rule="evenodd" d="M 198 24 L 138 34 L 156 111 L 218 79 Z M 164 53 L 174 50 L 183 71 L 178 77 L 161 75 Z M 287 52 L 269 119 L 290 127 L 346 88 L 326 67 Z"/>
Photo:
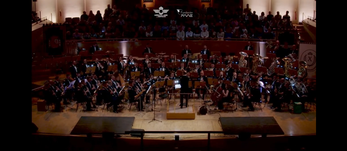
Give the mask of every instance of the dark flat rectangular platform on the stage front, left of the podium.
<path id="1" fill-rule="evenodd" d="M 81 117 L 70 134 L 125 134 L 133 127 L 135 117 Z"/>

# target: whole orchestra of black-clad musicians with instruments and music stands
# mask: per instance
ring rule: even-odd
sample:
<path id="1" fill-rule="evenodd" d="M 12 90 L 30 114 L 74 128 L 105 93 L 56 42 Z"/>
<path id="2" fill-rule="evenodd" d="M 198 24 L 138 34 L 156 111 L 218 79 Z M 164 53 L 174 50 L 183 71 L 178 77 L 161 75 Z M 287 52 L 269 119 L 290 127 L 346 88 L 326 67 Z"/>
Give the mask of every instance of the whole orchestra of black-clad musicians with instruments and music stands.
<path id="1" fill-rule="evenodd" d="M 287 48 L 287 46 L 284 47 Z M 291 53 L 297 53 L 296 47 L 292 47 L 292 49 L 293 52 Z M 245 50 L 253 50 L 253 46 L 248 42 Z M 240 101 L 243 103 L 242 106 L 240 105 L 241 108 L 248 107 L 248 111 L 254 111 L 253 102 L 259 102 L 263 99 L 264 103 L 272 103 L 271 109 L 281 111 L 282 103 L 296 101 L 305 104 L 305 102 L 314 100 L 314 83 L 307 83 L 307 78 L 305 78 L 307 75 L 306 62 L 299 63 L 301 68 L 298 69 L 297 75 L 289 76 L 275 73 L 272 64 L 271 67 L 268 67 L 271 72 L 263 73 L 251 70 L 253 62 L 248 62 L 251 65 L 246 66 L 245 57 L 248 57 L 248 54 L 245 52 L 240 52 L 241 57 L 235 62 L 233 60 L 238 57 L 225 56 L 225 54 L 224 56 L 211 55 L 206 46 L 195 57 L 194 61 L 192 60 L 192 50 L 188 49 L 188 46 L 182 50 L 181 60 L 176 60 L 176 56 L 179 54 L 175 53 L 168 54 L 168 56 L 164 56 L 163 53 L 155 54 L 149 44 L 147 44 L 144 53 L 153 53 L 156 58 L 151 58 L 145 54 L 145 58 L 142 59 L 130 55 L 119 57 L 118 60 L 112 60 L 109 57 L 100 60 L 98 58 L 95 60 L 84 59 L 81 64 L 78 64 L 77 61 L 71 61 L 71 66 L 68 68 L 70 73 L 66 74 L 66 79 L 60 80 L 57 76 L 54 82 L 48 80 L 48 83 L 44 85 L 45 99 L 48 103 L 55 104 L 56 109 L 54 111 L 57 112 L 61 111 L 59 102 L 63 100 L 64 105 L 68 105 L 72 101 L 82 102 L 85 104 L 86 111 L 93 111 L 92 108 L 95 109 L 96 106 L 106 104 L 107 109 L 112 107 L 115 113 L 119 112 L 118 105 L 125 102 L 136 103 L 137 110 L 143 111 L 146 108 L 143 102 L 148 104 L 155 101 L 156 91 L 159 90 L 159 87 L 166 88 L 166 92 L 169 93 L 168 99 L 175 99 L 173 97 L 176 95 L 172 94 L 181 93 L 181 108 L 184 105 L 188 107 L 188 99 L 196 97 L 192 95 L 193 92 L 197 94 L 196 99 L 205 100 L 205 98 L 210 97 L 211 104 L 220 111 L 225 110 L 223 103 L 226 102 Z M 202 58 L 205 54 L 208 59 Z M 221 57 L 225 57 L 224 60 Z M 188 66 L 191 62 L 194 63 L 193 67 Z M 210 64 L 209 67 L 203 66 L 205 62 Z M 237 64 L 238 62 L 242 62 L 242 66 Z M 169 65 L 166 66 L 166 63 Z M 109 66 L 115 64 L 118 65 L 118 70 L 106 71 Z M 239 68 L 234 69 L 233 64 L 236 67 L 246 69 L 243 71 Z M 275 62 L 276 67 L 273 67 L 279 68 L 279 64 L 280 62 L 277 61 Z M 283 62 L 282 65 L 284 65 Z M 87 71 L 88 67 L 93 66 L 95 66 L 95 71 Z M 178 70 L 182 71 L 182 75 L 177 75 Z M 164 71 L 164 75 L 155 75 L 155 71 Z M 140 72 L 140 75 L 131 77 L 133 76 L 130 76 L 131 72 Z M 127 75 L 125 76 L 125 74 Z M 168 85 L 168 80 L 173 80 L 172 84 Z M 209 83 L 211 80 L 213 82 Z M 164 85 L 155 84 L 158 81 L 165 81 L 165 83 Z M 189 81 L 193 85 L 188 86 Z M 194 82 L 196 81 L 204 82 L 204 84 L 195 85 Z M 74 84 L 71 84 L 72 82 Z M 180 84 L 181 88 L 176 89 L 176 84 Z M 148 91 L 150 88 L 151 90 Z M 142 94 L 137 96 L 141 91 L 143 91 Z M 183 99 L 186 99 L 185 104 Z M 304 110 L 305 105 L 302 107 Z"/>

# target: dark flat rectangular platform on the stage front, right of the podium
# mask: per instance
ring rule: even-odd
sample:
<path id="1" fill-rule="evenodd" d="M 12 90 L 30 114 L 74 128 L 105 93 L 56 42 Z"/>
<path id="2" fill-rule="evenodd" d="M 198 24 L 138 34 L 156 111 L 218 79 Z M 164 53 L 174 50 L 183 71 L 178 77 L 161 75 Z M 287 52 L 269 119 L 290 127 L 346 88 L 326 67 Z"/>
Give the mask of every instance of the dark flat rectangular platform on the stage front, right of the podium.
<path id="1" fill-rule="evenodd" d="M 273 117 L 220 117 L 224 134 L 238 135 L 283 135 L 281 127 Z"/>

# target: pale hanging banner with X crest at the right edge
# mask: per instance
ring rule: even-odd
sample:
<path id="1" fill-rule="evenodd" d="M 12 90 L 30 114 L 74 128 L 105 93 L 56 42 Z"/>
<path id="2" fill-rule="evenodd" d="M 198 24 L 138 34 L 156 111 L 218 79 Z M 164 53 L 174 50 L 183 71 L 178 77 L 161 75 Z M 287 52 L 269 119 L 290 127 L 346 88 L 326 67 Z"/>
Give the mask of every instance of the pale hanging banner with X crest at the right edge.
<path id="1" fill-rule="evenodd" d="M 308 65 L 307 78 L 316 78 L 316 44 L 300 43 L 299 61 L 305 61 Z"/>

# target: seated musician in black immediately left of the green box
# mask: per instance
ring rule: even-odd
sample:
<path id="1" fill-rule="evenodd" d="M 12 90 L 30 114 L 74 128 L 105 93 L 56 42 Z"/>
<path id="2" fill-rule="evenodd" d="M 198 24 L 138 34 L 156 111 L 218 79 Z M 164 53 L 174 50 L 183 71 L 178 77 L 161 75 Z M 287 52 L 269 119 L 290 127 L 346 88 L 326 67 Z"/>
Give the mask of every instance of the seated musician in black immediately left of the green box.
<path id="1" fill-rule="evenodd" d="M 293 93 L 295 92 L 293 89 L 290 88 L 290 83 L 287 82 L 284 84 L 284 88 L 280 88 L 278 91 L 279 99 L 273 102 L 272 106 L 276 107 L 275 111 L 280 112 L 282 111 L 281 106 L 282 103 L 290 103 L 291 99 L 293 99 Z"/>

